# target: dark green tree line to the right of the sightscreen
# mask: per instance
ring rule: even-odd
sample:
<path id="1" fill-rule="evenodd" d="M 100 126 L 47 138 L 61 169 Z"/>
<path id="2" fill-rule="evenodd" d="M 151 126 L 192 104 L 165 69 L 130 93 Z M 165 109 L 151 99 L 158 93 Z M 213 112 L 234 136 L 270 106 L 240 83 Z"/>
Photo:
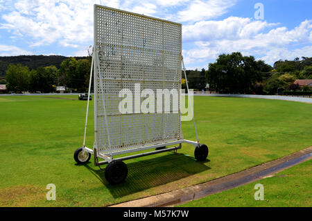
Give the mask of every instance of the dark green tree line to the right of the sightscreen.
<path id="1" fill-rule="evenodd" d="M 309 86 L 295 85 L 296 79 L 312 79 L 312 58 L 278 60 L 273 67 L 253 56 L 243 56 L 240 52 L 220 54 L 208 69 L 187 70 L 189 88 L 209 90 L 219 93 L 240 93 L 275 95 L 278 88 L 289 91 L 311 91 Z M 182 72 L 182 88 L 185 88 Z"/>

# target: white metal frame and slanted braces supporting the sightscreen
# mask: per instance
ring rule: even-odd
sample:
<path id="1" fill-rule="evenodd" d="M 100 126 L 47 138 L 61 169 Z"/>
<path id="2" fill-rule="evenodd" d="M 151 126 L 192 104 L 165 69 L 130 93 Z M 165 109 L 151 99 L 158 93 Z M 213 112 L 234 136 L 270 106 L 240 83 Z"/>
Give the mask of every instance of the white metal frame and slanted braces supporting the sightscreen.
<path id="1" fill-rule="evenodd" d="M 194 120 L 194 117 L 193 117 L 193 124 L 194 124 L 194 128 L 195 128 L 195 131 L 196 131 L 196 142 L 195 141 L 191 141 L 191 140 L 184 140 L 182 138 L 182 131 L 181 131 L 181 118 L 180 118 L 180 110 L 179 110 L 179 133 L 180 133 L 180 137 L 175 139 L 167 139 L 167 140 L 163 140 L 161 142 L 159 141 L 156 141 L 156 142 L 149 142 L 149 143 L 146 143 L 146 144 L 141 144 L 141 145 L 137 145 L 137 144 L 134 144 L 134 145 L 128 145 L 126 148 L 117 148 L 117 149 L 112 149 L 110 148 L 111 147 L 111 138 L 110 138 L 110 131 L 109 131 L 109 125 L 108 125 L 108 120 L 107 120 L 107 111 L 106 111 L 106 108 L 105 108 L 105 95 L 104 95 L 104 81 L 103 81 L 103 76 L 102 76 L 102 73 L 101 73 L 101 61 L 99 59 L 99 49 L 98 49 L 98 45 L 96 45 L 96 42 L 97 42 L 97 36 L 96 36 L 96 30 L 98 28 L 97 26 L 97 21 L 96 21 L 96 13 L 97 13 L 97 8 L 105 8 L 105 10 L 112 10 L 114 12 L 119 12 L 119 13 L 126 13 L 127 15 L 134 15 L 136 17 L 142 17 L 142 18 L 147 18 L 147 19 L 153 19 L 155 21 L 159 21 L 159 22 L 168 22 L 169 24 L 177 24 L 177 23 L 174 23 L 174 22 L 169 22 L 169 21 L 166 21 L 166 20 L 162 20 L 162 19 L 157 19 L 157 18 L 154 18 L 154 17 L 147 17 L 145 15 L 139 15 L 139 14 L 135 14 L 135 13 L 129 13 L 129 12 L 125 12 L 123 10 L 117 10 L 117 9 L 114 9 L 114 8 L 108 8 L 108 7 L 104 7 L 104 6 L 98 6 L 98 5 L 94 5 L 94 48 L 93 48 L 93 53 L 92 53 L 92 67 L 91 67 L 91 72 L 90 72 L 90 79 L 89 79 L 89 90 L 88 90 L 88 99 L 87 99 L 87 113 L 86 113 L 86 118 L 85 118 L 85 133 L 84 133 L 84 139 L 83 139 L 83 152 L 89 152 L 89 154 L 93 154 L 94 155 L 94 163 L 95 165 L 100 165 L 101 162 L 103 163 L 110 163 L 113 159 L 114 159 L 114 156 L 116 155 L 121 155 L 121 154 L 128 154 L 128 153 L 132 153 L 132 152 L 139 152 L 139 151 L 143 151 L 143 150 L 148 150 L 148 149 L 155 149 L 157 147 L 164 147 L 164 146 L 171 146 L 171 145 L 180 145 L 180 148 L 181 148 L 181 144 L 182 143 L 187 143 L 187 144 L 191 144 L 193 145 L 194 147 L 198 147 L 198 145 L 200 144 L 199 143 L 199 140 L 198 140 L 198 133 L 197 133 L 197 130 L 196 130 L 196 124 L 195 124 L 195 120 Z M 103 22 L 103 20 L 101 21 Z M 178 24 L 178 25 L 181 25 L 181 24 Z M 164 30 L 164 27 L 162 27 L 163 30 Z M 163 32 L 164 33 L 164 32 Z M 163 34 L 164 35 L 164 34 Z M 181 39 L 181 35 L 182 33 L 180 33 L 180 39 Z M 163 40 L 162 40 L 162 44 L 164 44 L 164 37 L 163 37 Z M 121 60 L 122 60 L 122 55 L 121 55 Z M 179 75 L 181 76 L 181 64 L 183 66 L 183 71 L 184 71 L 184 76 L 185 76 L 185 79 L 186 79 L 186 82 L 187 82 L 187 74 L 185 72 L 185 67 L 184 67 L 184 62 L 183 62 L 183 57 L 181 55 L 181 46 L 180 46 L 180 69 L 178 70 L 178 73 Z M 164 69 L 164 59 L 162 60 L 162 68 Z M 121 68 L 122 70 L 122 68 Z M 88 116 L 88 110 L 89 110 L 89 96 L 90 96 L 90 90 L 91 90 L 91 82 L 92 82 L 92 74 L 94 72 L 94 146 L 93 146 L 93 149 L 90 149 L 88 147 L 85 146 L 85 140 L 86 140 L 86 131 L 87 131 L 87 116 Z M 164 74 L 164 70 L 163 70 L 163 74 Z M 121 75 L 121 78 L 122 78 L 122 75 Z M 180 77 L 181 78 L 181 77 Z M 163 79 L 164 79 L 164 76 L 163 76 Z M 99 80 L 99 83 L 97 83 Z M 121 79 L 122 81 L 122 79 Z M 164 82 L 163 82 L 164 84 Z M 98 88 L 98 85 L 100 88 Z M 179 81 L 179 89 L 181 88 L 181 79 Z M 104 121 L 105 121 L 105 134 L 107 136 L 107 141 L 108 141 L 108 148 L 105 149 L 105 150 L 99 150 L 98 148 L 98 90 L 101 91 L 99 97 L 101 98 L 101 101 L 103 102 L 102 104 L 102 107 L 103 107 L 103 112 L 104 112 Z M 187 83 L 187 91 L 189 93 L 189 85 Z M 180 92 L 180 90 L 179 90 Z M 179 96 L 180 97 L 180 96 Z M 188 96 L 189 97 L 189 96 Z M 189 97 L 189 105 L 191 105 L 192 107 L 192 104 L 191 104 L 191 99 Z M 193 114 L 193 108 L 191 108 L 191 112 Z M 164 117 L 163 117 L 164 118 Z M 163 119 L 162 118 L 162 119 Z M 180 148 L 177 148 L 177 149 L 180 149 Z M 168 149 L 172 149 L 172 148 L 168 148 Z M 166 150 L 165 150 L 166 151 Z M 163 152 L 163 151 L 158 151 L 158 152 Z M 155 153 L 157 153 L 157 151 L 155 151 Z M 104 161 L 101 161 L 101 162 L 98 162 L 98 158 L 102 158 Z"/>

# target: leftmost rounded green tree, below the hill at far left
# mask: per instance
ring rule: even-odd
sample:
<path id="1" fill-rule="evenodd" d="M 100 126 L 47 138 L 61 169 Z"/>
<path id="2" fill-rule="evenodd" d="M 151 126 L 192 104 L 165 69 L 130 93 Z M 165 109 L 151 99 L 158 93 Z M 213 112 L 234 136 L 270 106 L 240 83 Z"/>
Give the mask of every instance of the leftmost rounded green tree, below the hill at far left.
<path id="1" fill-rule="evenodd" d="M 30 72 L 27 66 L 21 64 L 9 65 L 6 70 L 6 87 L 13 92 L 26 92 L 29 86 Z"/>

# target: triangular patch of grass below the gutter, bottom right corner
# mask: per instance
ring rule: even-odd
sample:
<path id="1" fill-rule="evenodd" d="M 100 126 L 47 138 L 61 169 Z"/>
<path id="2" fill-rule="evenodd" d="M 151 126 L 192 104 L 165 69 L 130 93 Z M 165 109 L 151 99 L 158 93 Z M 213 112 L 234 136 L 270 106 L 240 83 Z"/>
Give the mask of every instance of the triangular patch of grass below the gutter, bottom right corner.
<path id="1" fill-rule="evenodd" d="M 312 160 L 288 168 L 272 177 L 232 190 L 216 193 L 180 206 L 312 206 Z M 261 183 L 263 200 L 254 200 L 254 186 Z"/>

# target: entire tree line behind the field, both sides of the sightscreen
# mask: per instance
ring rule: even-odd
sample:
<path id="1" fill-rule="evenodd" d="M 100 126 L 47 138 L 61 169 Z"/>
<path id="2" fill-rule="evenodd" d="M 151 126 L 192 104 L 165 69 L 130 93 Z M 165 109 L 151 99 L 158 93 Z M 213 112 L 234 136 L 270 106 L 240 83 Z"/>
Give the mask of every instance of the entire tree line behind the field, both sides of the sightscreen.
<path id="1" fill-rule="evenodd" d="M 6 69 L 8 91 L 12 92 L 55 92 L 57 85 L 66 86 L 72 92 L 87 91 L 91 57 L 62 60 L 60 65 L 48 65 L 30 69 L 26 65 L 10 64 Z M 253 56 L 243 56 L 240 52 L 220 54 L 215 63 L 206 69 L 187 70 L 189 88 L 209 90 L 219 93 L 240 93 L 274 95 L 278 88 L 284 90 L 311 90 L 300 88 L 296 79 L 312 79 L 312 58 L 278 60 L 273 67 Z M 182 72 L 182 88 L 186 88 Z"/>

